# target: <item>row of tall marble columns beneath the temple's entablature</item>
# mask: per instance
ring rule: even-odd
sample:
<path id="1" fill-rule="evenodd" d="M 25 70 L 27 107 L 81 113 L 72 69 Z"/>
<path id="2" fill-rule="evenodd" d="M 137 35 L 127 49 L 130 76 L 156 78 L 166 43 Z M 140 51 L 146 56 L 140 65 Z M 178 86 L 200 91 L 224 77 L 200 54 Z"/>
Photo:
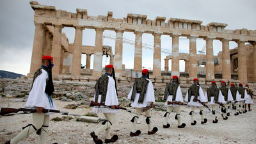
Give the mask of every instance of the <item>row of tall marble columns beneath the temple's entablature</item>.
<path id="1" fill-rule="evenodd" d="M 31 58 L 31 68 L 30 73 L 33 74 L 38 67 L 42 64 L 42 54 L 44 49 L 44 24 L 35 24 L 35 37 L 33 43 L 33 53 Z M 52 42 L 52 53 L 51 56 L 54 58 L 54 68 L 52 69 L 52 74 L 61 74 L 61 29 L 63 26 L 54 25 L 54 35 Z M 74 40 L 74 52 L 72 60 L 72 76 L 81 75 L 81 52 L 82 52 L 82 40 L 83 40 L 83 29 L 82 26 L 75 26 L 76 34 Z M 95 28 L 95 52 L 93 60 L 93 76 L 101 76 L 102 74 L 102 38 L 104 28 Z M 124 29 L 116 29 L 116 43 L 115 43 L 115 72 L 116 77 L 122 77 L 122 54 L 123 54 L 123 33 Z M 134 72 L 140 72 L 142 68 L 142 35 L 143 31 L 135 31 L 135 49 L 134 49 Z M 153 33 L 154 35 L 154 61 L 153 61 L 153 76 L 161 76 L 161 33 Z M 179 36 L 172 36 L 172 76 L 179 76 Z M 197 77 L 197 61 L 196 61 L 196 38 L 198 36 L 188 36 L 189 38 L 189 62 L 186 62 L 185 70 L 189 70 L 189 77 Z M 213 56 L 213 46 L 212 41 L 214 38 L 207 37 L 206 40 L 206 79 L 214 79 L 214 56 Z M 223 54 L 222 54 L 222 74 L 223 79 L 231 79 L 230 70 L 230 54 L 229 54 L 229 41 L 228 39 L 223 39 Z M 244 41 L 238 41 L 238 75 L 239 80 L 243 83 L 247 82 L 247 71 L 246 71 L 246 51 L 244 47 Z M 253 44 L 253 58 L 256 61 L 256 44 Z M 112 64 L 112 63 L 111 63 Z M 164 65 L 168 67 L 168 64 Z M 256 63 L 253 63 L 254 73 L 256 83 Z M 90 68 L 90 54 L 86 55 L 86 69 Z"/>

